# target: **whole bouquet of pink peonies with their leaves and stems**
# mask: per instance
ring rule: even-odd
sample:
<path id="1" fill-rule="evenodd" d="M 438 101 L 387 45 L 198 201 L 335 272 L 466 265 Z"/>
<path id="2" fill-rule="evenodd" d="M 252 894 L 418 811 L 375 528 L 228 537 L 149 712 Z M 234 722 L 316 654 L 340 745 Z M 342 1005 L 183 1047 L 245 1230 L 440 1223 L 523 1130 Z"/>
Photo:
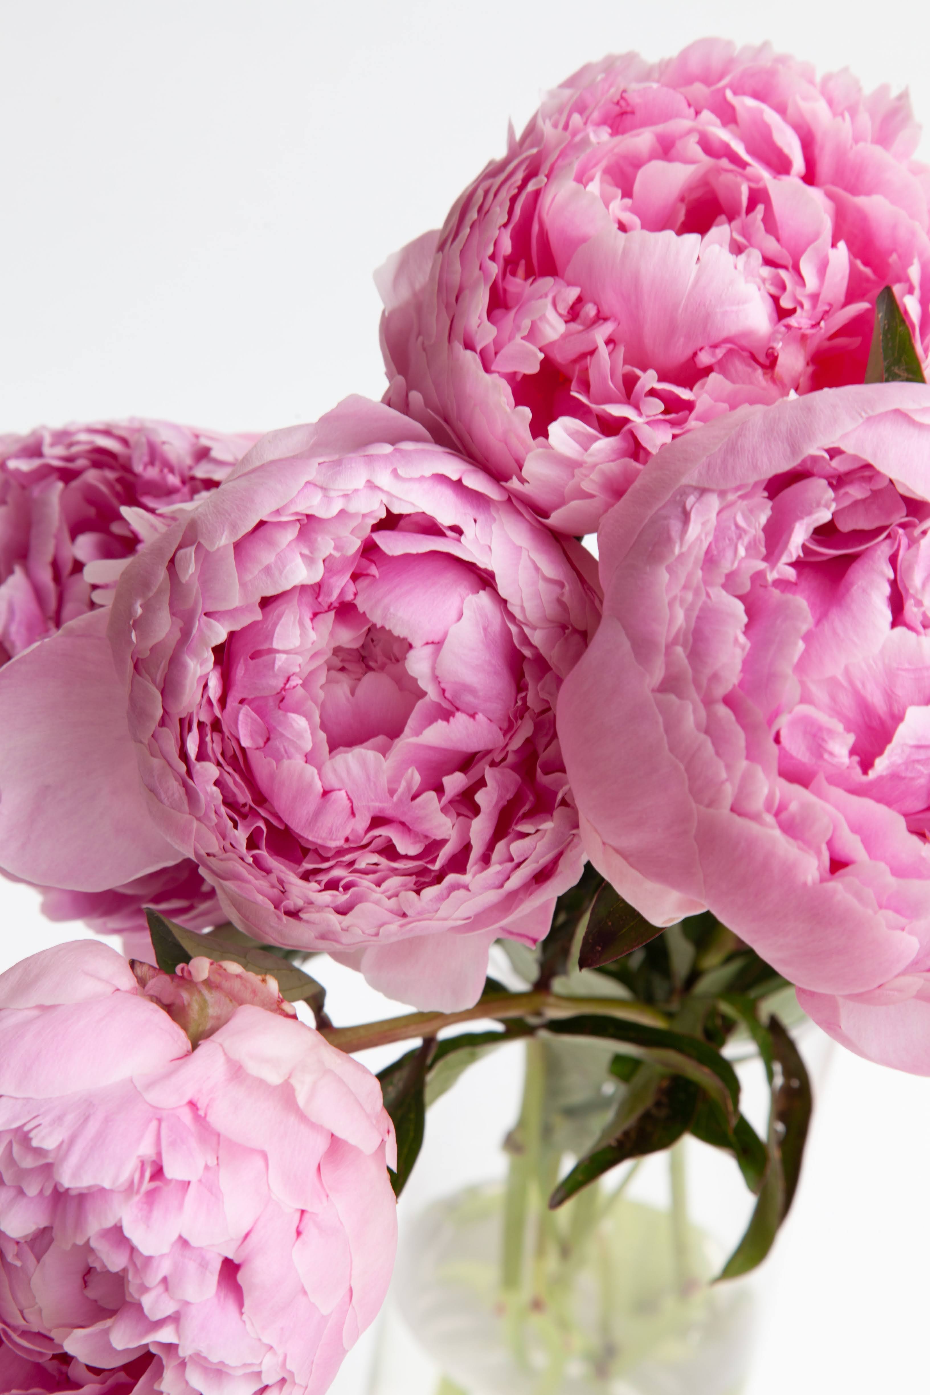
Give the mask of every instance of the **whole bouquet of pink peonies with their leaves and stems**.
<path id="1" fill-rule="evenodd" d="M 930 1074 L 916 138 L 765 47 L 611 57 L 379 272 L 382 403 L 0 438 L 0 868 L 127 953 L 0 975 L 0 1395 L 321 1395 L 514 1038 L 510 1318 L 530 1212 L 581 1244 L 686 1134 L 757 1198 L 719 1276 L 765 1257 L 786 989 Z M 319 954 L 416 1011 L 333 1025 Z"/>

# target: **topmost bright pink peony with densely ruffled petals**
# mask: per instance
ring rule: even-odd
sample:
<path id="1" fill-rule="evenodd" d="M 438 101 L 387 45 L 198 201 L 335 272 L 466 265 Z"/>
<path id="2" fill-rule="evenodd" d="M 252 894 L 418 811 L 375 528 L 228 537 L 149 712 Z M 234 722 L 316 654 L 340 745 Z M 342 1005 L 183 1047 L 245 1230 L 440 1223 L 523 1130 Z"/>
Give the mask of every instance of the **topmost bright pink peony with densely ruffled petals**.
<path id="1" fill-rule="evenodd" d="M 917 135 L 768 46 L 591 64 L 379 273 L 385 400 L 590 531 L 682 431 L 862 382 L 884 285 L 930 347 Z"/>

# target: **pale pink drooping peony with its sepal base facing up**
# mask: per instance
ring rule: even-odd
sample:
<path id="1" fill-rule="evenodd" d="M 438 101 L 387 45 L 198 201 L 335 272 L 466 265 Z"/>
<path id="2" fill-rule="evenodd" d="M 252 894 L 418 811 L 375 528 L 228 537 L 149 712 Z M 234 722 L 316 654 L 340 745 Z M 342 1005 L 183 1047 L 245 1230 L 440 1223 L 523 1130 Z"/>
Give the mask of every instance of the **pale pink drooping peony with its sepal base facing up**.
<path id="1" fill-rule="evenodd" d="M 78 940 L 0 975 L 4 1391 L 322 1392 L 383 1300 L 378 1081 L 273 981 L 185 971 Z"/>

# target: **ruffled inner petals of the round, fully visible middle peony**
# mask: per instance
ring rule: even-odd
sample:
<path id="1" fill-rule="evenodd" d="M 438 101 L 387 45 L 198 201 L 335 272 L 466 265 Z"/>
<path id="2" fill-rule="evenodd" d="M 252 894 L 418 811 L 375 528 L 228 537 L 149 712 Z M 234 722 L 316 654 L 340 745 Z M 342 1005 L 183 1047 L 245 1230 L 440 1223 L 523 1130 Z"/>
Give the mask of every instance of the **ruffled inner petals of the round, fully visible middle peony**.
<path id="1" fill-rule="evenodd" d="M 456 822 L 527 711 L 501 597 L 445 538 L 392 555 L 397 536 L 372 531 L 318 585 L 264 601 L 216 651 L 198 714 L 224 804 L 254 801 L 251 847 L 333 880 L 360 848 L 382 879 L 410 857 L 422 884 L 464 870 Z"/>

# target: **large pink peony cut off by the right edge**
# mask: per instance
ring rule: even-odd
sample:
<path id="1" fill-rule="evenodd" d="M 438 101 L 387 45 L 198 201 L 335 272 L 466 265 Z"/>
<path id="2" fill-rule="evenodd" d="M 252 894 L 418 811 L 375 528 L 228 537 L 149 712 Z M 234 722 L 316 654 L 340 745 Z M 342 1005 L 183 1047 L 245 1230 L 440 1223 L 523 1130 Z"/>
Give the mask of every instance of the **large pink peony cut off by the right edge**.
<path id="1" fill-rule="evenodd" d="M 750 407 L 602 520 L 559 735 L 600 872 L 710 907 L 831 1035 L 930 1074 L 930 388 Z"/>

